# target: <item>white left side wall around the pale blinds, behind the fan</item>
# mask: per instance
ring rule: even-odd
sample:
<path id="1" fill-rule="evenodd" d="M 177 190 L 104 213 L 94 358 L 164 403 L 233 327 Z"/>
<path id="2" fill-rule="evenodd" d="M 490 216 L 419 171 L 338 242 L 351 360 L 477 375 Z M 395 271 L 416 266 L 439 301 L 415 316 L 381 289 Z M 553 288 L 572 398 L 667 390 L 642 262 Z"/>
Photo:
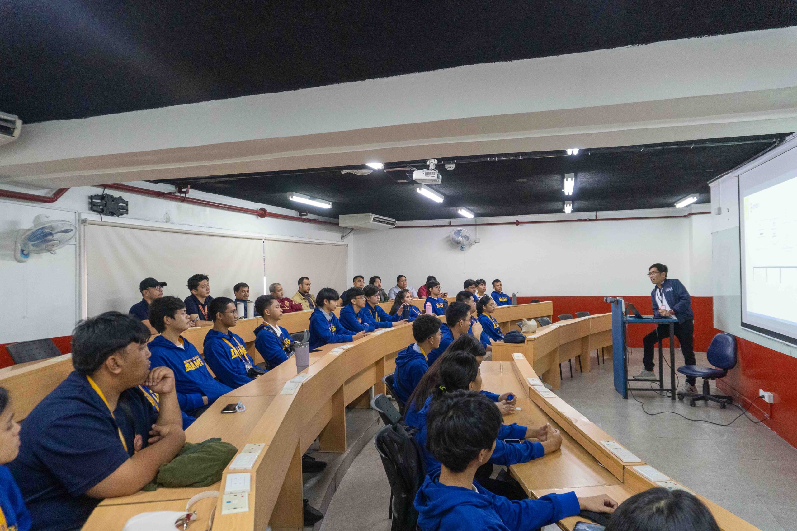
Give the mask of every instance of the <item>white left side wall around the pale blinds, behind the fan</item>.
<path id="1" fill-rule="evenodd" d="M 167 185 L 152 185 L 145 182 L 132 183 L 143 188 L 172 191 Z M 6 188 L 10 188 L 6 186 Z M 29 190 L 25 190 L 28 191 Z M 21 306 L 9 306 L 8 318 L 0 320 L 0 344 L 27 341 L 38 338 L 53 338 L 71 334 L 75 322 L 80 318 L 78 241 L 73 240 L 56 255 L 35 255 L 26 264 L 14 260 L 14 240 L 18 229 L 33 225 L 33 217 L 49 214 L 51 219 L 61 219 L 79 224 L 80 218 L 100 219 L 88 210 L 88 196 L 101 193 L 101 188 L 80 187 L 69 189 L 52 205 L 34 204 L 25 201 L 0 200 L 0 279 L 2 300 L 13 301 Z M 296 221 L 261 219 L 249 214 L 227 212 L 196 205 L 165 201 L 155 197 L 122 193 L 110 190 L 112 195 L 122 195 L 130 201 L 130 214 L 122 218 L 104 217 L 105 221 L 120 221 L 169 228 L 202 229 L 222 233 L 251 233 L 263 236 L 292 236 L 312 240 L 340 242 L 342 230 L 333 225 L 315 225 Z M 191 191 L 191 197 L 219 201 L 227 204 L 259 209 L 269 212 L 296 215 L 296 212 L 250 201 L 238 201 L 211 193 Z M 80 236 L 78 236 L 79 238 Z M 347 256 L 351 255 L 351 240 Z M 157 278 L 157 267 L 152 275 Z M 301 275 L 296 267 L 296 277 L 283 280 L 285 291 L 292 293 L 292 283 Z M 351 275 L 347 275 L 351 278 Z M 269 279 L 269 282 L 277 279 Z M 129 291 L 132 302 L 138 299 L 138 286 L 120 286 L 120 291 Z M 219 287 L 221 288 L 221 287 Z M 339 288 L 339 287 L 336 287 Z M 185 288 L 180 290 L 186 296 Z M 177 293 L 171 295 L 178 295 Z M 128 310 L 129 306 L 120 308 Z"/>

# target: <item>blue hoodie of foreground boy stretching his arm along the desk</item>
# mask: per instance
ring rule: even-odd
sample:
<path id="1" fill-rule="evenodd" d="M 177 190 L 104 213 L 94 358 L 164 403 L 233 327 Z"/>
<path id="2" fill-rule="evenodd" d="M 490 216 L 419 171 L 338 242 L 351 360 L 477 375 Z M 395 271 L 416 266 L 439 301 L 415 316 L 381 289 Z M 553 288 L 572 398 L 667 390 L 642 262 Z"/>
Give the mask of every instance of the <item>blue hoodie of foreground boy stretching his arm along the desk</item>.
<path id="1" fill-rule="evenodd" d="M 581 512 L 575 492 L 532 500 L 508 500 L 473 482 L 473 489 L 443 485 L 429 474 L 415 495 L 423 531 L 527 531 Z"/>

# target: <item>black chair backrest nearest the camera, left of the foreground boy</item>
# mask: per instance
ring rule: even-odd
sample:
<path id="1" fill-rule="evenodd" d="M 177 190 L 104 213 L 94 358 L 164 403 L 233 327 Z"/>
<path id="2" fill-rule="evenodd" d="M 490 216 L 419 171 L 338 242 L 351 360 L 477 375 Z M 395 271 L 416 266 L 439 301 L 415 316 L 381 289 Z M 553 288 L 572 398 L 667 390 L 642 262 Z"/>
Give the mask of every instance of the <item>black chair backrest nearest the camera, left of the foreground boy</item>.
<path id="1" fill-rule="evenodd" d="M 404 424 L 395 424 L 385 426 L 374 437 L 374 446 L 393 493 L 391 531 L 415 531 L 418 523 L 418 511 L 413 502 L 426 478 L 426 468 L 421 447 L 412 436 L 414 431 Z"/>

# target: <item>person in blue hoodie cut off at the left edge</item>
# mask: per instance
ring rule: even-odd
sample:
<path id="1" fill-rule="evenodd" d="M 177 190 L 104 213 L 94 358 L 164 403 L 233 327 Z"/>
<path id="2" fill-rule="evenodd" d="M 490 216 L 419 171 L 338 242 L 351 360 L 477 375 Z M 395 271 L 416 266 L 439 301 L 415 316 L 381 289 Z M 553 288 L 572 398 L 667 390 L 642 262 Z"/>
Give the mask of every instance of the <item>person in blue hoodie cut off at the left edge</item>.
<path id="1" fill-rule="evenodd" d="M 14 420 L 10 405 L 8 391 L 0 387 L 0 529 L 29 531 L 30 513 L 22 501 L 22 493 L 10 470 L 2 466 L 19 454 L 19 423 Z"/>

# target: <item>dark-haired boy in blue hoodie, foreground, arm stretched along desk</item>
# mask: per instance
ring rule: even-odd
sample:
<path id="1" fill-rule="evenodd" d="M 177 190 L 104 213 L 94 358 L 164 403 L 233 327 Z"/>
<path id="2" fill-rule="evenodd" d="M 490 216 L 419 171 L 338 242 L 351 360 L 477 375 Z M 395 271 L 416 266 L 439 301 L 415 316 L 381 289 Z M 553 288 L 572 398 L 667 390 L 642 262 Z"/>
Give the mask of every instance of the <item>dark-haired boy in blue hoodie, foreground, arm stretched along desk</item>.
<path id="1" fill-rule="evenodd" d="M 415 496 L 422 531 L 526 531 L 582 510 L 611 513 L 617 502 L 605 494 L 578 498 L 575 492 L 510 501 L 475 479 L 497 447 L 501 414 L 477 392 L 446 393 L 430 408 L 426 446 L 442 463 L 426 476 Z"/>

